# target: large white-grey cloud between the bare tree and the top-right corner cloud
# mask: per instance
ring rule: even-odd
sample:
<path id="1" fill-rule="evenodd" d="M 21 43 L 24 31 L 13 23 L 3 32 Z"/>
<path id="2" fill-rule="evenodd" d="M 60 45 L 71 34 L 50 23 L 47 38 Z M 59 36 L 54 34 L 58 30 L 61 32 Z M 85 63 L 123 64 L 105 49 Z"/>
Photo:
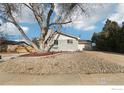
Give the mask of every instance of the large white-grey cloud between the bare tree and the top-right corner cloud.
<path id="1" fill-rule="evenodd" d="M 112 6 L 114 4 L 95 4 L 91 5 L 88 10 L 88 16 L 80 14 L 73 15 L 72 26 L 76 29 L 91 31 L 96 28 L 96 23 L 105 20 L 107 16 L 112 14 Z M 78 17 L 76 17 L 78 15 Z"/>

